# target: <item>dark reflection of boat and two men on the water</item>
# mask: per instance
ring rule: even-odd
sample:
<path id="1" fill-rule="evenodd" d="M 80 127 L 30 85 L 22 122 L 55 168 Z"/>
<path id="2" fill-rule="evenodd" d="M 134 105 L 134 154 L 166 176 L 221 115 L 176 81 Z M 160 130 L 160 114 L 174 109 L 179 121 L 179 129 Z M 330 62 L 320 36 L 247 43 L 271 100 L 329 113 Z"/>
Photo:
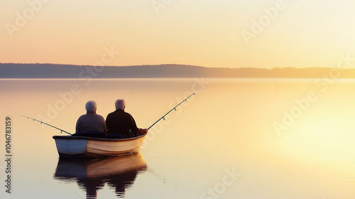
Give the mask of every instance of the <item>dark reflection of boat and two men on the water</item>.
<path id="1" fill-rule="evenodd" d="M 54 174 L 59 181 L 76 181 L 86 190 L 87 198 L 97 198 L 97 191 L 107 183 L 118 198 L 123 198 L 138 173 L 146 171 L 141 153 L 109 158 L 60 158 Z"/>

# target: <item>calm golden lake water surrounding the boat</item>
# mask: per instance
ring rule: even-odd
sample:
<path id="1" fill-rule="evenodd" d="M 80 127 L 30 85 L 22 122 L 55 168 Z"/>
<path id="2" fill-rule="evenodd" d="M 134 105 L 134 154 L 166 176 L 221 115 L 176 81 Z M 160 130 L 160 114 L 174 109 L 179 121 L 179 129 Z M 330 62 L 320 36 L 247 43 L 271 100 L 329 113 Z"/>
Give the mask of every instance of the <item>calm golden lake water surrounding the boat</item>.
<path id="1" fill-rule="evenodd" d="M 11 194 L 0 198 L 355 198 L 355 80 L 0 80 L 1 149 L 11 117 Z M 141 152 L 100 161 L 58 158 L 60 131 L 75 132 L 95 100 L 114 101 L 147 128 Z"/>

